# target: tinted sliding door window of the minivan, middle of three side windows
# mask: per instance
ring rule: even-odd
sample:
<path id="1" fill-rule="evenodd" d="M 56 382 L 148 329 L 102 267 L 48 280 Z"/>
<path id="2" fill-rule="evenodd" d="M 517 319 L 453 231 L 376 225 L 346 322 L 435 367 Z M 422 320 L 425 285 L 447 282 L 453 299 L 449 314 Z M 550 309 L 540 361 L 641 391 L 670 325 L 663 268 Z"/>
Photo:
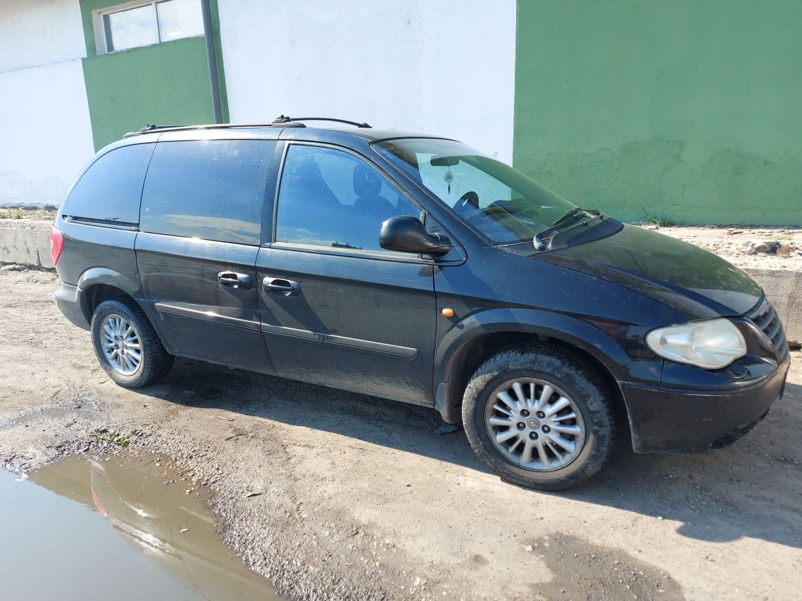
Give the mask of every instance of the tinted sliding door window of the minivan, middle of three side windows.
<path id="1" fill-rule="evenodd" d="M 191 140 L 156 144 L 142 192 L 143 232 L 261 242 L 273 140 Z"/>

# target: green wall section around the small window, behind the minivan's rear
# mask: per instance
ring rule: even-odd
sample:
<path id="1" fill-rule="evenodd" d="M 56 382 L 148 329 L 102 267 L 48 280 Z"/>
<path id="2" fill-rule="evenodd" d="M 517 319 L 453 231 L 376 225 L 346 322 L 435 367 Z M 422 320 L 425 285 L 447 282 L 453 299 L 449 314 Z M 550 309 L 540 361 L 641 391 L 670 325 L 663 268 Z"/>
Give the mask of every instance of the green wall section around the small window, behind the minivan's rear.
<path id="1" fill-rule="evenodd" d="M 96 149 L 146 123 L 172 125 L 213 122 L 203 37 L 97 54 L 91 11 L 115 6 L 119 2 L 80 0 L 80 4 L 87 42 L 83 78 Z M 217 2 L 212 2 L 212 17 L 223 120 L 228 121 Z"/>

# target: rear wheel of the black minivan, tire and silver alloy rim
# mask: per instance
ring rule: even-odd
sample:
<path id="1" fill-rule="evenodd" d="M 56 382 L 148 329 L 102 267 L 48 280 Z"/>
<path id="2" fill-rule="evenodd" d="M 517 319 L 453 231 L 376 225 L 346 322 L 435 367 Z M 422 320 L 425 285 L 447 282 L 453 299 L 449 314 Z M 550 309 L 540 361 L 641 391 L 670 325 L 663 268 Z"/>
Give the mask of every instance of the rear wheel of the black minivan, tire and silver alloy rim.
<path id="1" fill-rule="evenodd" d="M 172 368 L 175 357 L 164 349 L 137 305 L 120 299 L 104 300 L 92 315 L 91 333 L 100 366 L 121 386 L 142 388 Z"/>

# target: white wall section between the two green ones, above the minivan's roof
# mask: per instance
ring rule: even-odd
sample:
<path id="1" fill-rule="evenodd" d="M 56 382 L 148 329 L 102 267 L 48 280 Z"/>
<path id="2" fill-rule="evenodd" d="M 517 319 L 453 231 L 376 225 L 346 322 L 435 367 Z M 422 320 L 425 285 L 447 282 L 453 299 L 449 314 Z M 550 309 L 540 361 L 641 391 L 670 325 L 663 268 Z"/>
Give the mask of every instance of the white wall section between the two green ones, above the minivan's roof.
<path id="1" fill-rule="evenodd" d="M 331 116 L 512 162 L 515 0 L 218 0 L 233 122 Z"/>

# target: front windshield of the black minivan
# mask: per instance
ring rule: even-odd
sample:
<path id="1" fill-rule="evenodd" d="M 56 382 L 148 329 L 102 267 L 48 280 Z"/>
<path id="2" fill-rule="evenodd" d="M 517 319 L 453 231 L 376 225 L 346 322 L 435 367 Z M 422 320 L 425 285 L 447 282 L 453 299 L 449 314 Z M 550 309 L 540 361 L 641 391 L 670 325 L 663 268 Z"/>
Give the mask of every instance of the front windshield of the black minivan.
<path id="1" fill-rule="evenodd" d="M 576 209 L 520 171 L 459 142 L 404 138 L 375 147 L 492 244 L 533 240 Z"/>

